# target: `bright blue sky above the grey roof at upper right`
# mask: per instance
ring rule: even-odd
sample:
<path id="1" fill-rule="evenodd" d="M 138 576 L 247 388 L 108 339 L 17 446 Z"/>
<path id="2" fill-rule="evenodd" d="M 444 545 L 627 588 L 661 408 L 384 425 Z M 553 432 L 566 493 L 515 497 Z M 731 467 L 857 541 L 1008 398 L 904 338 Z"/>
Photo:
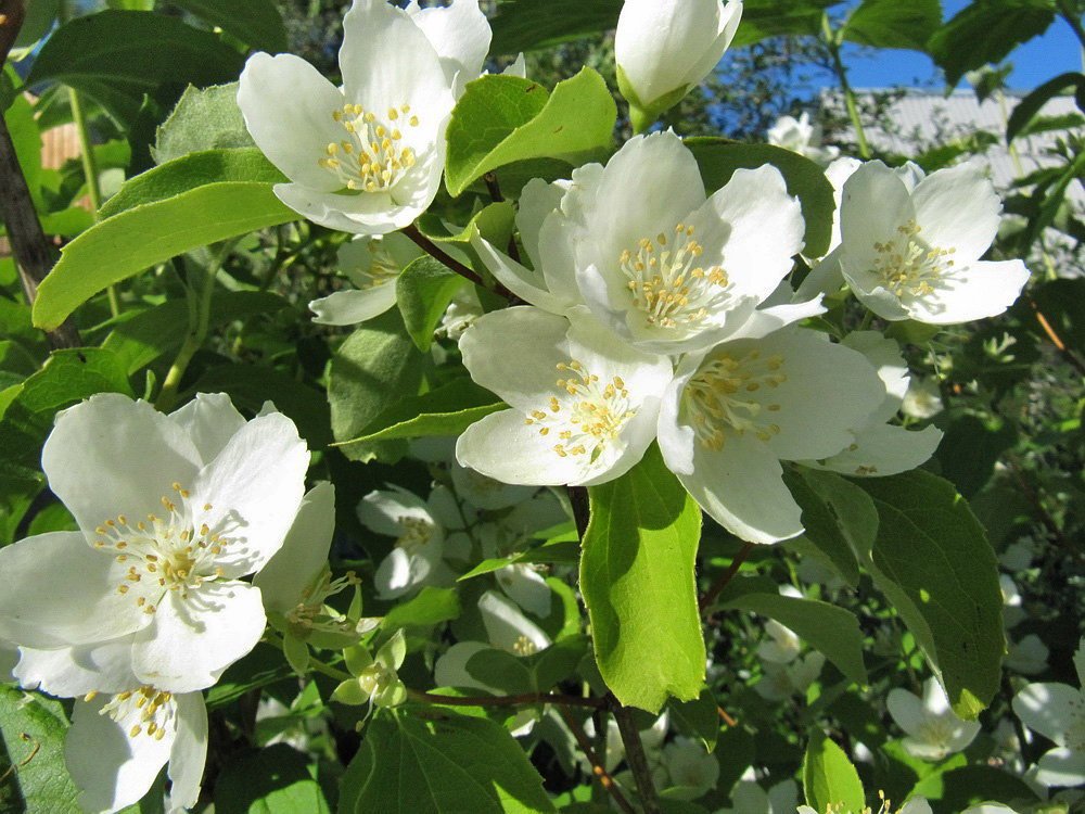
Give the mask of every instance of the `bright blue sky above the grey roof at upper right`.
<path id="1" fill-rule="evenodd" d="M 907 0 L 901 0 L 907 2 Z M 968 4 L 967 0 L 943 0 L 946 18 Z M 888 87 L 891 85 L 931 85 L 941 90 L 934 63 L 929 56 L 915 51 L 848 48 L 845 51 L 848 79 L 856 88 Z M 1043 37 L 1030 40 L 1010 54 L 1013 73 L 1009 87 L 1031 90 L 1041 82 L 1067 71 L 1082 69 L 1082 54 L 1077 39 L 1065 21 L 1059 18 Z M 967 82 L 963 87 L 968 87 Z"/>

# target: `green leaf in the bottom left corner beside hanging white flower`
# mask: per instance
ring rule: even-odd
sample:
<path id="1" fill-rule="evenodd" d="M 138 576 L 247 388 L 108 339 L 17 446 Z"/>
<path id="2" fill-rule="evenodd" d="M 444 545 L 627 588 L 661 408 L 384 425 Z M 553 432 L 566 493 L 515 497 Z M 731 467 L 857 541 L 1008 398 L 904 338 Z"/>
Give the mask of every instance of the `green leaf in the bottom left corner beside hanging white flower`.
<path id="1" fill-rule="evenodd" d="M 79 791 L 64 765 L 68 722 L 59 701 L 0 685 L 0 811 L 80 814 Z M 7 754 L 4 754 L 4 752 Z"/>

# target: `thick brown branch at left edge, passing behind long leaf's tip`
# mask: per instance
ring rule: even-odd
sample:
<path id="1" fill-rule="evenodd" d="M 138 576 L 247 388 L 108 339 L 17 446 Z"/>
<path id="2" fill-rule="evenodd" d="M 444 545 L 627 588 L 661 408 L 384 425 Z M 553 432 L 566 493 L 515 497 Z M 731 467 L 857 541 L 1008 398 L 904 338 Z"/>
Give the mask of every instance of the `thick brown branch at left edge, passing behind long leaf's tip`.
<path id="1" fill-rule="evenodd" d="M 49 241 L 41 230 L 30 188 L 26 185 L 23 168 L 18 165 L 15 144 L 8 131 L 8 124 L 0 116 L 0 217 L 8 227 L 12 253 L 18 267 L 18 277 L 26 292 L 26 301 L 33 306 L 38 295 L 38 285 L 53 267 L 53 256 Z M 55 331 L 46 332 L 46 342 L 53 349 L 79 347 L 79 332 L 68 317 Z"/>

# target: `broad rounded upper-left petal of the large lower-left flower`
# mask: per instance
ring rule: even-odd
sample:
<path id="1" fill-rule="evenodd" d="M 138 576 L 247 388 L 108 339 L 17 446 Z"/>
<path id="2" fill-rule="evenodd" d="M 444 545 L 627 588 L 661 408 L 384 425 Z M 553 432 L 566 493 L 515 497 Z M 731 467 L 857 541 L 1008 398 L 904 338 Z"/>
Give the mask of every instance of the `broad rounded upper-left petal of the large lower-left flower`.
<path id="1" fill-rule="evenodd" d="M 117 514 L 162 510 L 173 483 L 192 482 L 200 453 L 146 402 L 102 393 L 64 410 L 41 450 L 49 487 L 88 534 Z"/>

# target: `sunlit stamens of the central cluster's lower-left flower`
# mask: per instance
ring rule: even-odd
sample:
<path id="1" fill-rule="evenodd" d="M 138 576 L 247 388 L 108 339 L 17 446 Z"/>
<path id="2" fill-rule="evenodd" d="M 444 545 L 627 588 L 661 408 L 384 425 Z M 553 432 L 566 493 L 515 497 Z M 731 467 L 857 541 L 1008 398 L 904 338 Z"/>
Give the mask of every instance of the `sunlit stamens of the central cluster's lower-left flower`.
<path id="1" fill-rule="evenodd" d="M 602 454 L 609 441 L 618 436 L 622 427 L 636 414 L 630 409 L 629 391 L 622 377 L 607 384 L 585 370 L 576 359 L 558 364 L 558 370 L 575 376 L 558 379 L 561 397 L 550 396 L 547 410 L 532 410 L 525 424 L 538 424 L 539 435 L 551 431 L 559 438 L 552 449 L 559 458 L 589 455 L 591 462 Z"/>

